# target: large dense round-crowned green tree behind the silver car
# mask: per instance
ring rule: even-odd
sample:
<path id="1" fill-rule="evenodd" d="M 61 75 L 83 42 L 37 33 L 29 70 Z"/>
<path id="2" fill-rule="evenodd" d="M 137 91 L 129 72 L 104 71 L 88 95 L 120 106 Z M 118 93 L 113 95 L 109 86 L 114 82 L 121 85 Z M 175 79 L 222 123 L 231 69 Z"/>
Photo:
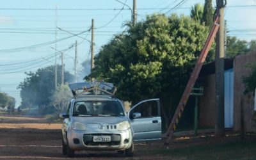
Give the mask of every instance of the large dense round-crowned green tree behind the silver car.
<path id="1" fill-rule="evenodd" d="M 160 97 L 168 124 L 207 34 L 208 28 L 184 15 L 148 16 L 102 47 L 90 77 L 109 78 L 123 100 Z"/>

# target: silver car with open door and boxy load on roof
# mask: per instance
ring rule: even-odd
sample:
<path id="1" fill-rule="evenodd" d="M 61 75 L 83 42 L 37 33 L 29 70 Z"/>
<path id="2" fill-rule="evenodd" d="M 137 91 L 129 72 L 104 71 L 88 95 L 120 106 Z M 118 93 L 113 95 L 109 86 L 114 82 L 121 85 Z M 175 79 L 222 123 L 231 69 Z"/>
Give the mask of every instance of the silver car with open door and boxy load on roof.
<path id="1" fill-rule="evenodd" d="M 70 89 L 74 99 L 60 115 L 65 118 L 62 151 L 68 157 L 76 150 L 117 150 L 132 156 L 135 141 L 161 140 L 159 99 L 143 100 L 126 113 L 109 83 L 76 83 Z"/>

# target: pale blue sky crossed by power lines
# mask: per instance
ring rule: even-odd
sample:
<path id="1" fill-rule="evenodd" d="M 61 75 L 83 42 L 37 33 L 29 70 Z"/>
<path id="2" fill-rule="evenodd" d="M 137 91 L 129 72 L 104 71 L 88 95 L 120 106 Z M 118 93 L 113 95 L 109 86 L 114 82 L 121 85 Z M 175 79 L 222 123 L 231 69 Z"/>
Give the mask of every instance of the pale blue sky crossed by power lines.
<path id="1" fill-rule="evenodd" d="M 38 68 L 54 65 L 56 51 L 52 48 L 65 51 L 65 70 L 74 74 L 75 49 L 70 46 L 76 40 L 77 69 L 81 70 L 81 63 L 90 60 L 88 40 L 91 40 L 91 33 L 88 29 L 92 19 L 95 25 L 95 54 L 113 35 L 125 30 L 125 22 L 131 21 L 132 0 L 119 1 L 125 5 L 116 0 L 1 1 L 0 92 L 14 97 L 16 107 L 19 106 L 21 99 L 17 86 L 27 77 L 24 72 L 35 72 Z M 179 3 L 179 8 L 173 9 Z M 204 0 L 137 0 L 138 21 L 153 13 L 189 15 L 195 3 L 204 4 Z M 212 4 L 216 6 L 216 1 L 212 0 Z M 241 40 L 255 40 L 255 16 L 256 0 L 227 0 L 224 19 L 227 20 L 228 35 Z M 84 33 L 78 37 L 67 31 Z M 61 64 L 60 56 L 57 63 Z"/>

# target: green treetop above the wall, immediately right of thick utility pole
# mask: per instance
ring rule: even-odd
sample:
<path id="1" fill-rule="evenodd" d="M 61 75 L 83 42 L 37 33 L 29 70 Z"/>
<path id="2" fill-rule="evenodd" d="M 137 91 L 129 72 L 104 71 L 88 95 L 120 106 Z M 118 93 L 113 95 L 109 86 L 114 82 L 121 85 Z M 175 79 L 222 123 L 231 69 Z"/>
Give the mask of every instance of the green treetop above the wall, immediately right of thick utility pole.
<path id="1" fill-rule="evenodd" d="M 244 54 L 248 51 L 248 42 L 239 40 L 236 36 L 227 36 L 226 56 L 228 58 L 234 57 L 237 54 Z"/>

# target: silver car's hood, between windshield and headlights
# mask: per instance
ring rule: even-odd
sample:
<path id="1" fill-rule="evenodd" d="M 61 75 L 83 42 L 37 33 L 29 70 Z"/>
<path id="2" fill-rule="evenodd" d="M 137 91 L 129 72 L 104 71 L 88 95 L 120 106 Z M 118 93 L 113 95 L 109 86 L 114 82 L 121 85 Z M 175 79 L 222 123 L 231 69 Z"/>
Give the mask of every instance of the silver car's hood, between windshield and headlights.
<path id="1" fill-rule="evenodd" d="M 128 120 L 126 116 L 73 116 L 73 119 L 83 124 L 118 124 Z"/>

